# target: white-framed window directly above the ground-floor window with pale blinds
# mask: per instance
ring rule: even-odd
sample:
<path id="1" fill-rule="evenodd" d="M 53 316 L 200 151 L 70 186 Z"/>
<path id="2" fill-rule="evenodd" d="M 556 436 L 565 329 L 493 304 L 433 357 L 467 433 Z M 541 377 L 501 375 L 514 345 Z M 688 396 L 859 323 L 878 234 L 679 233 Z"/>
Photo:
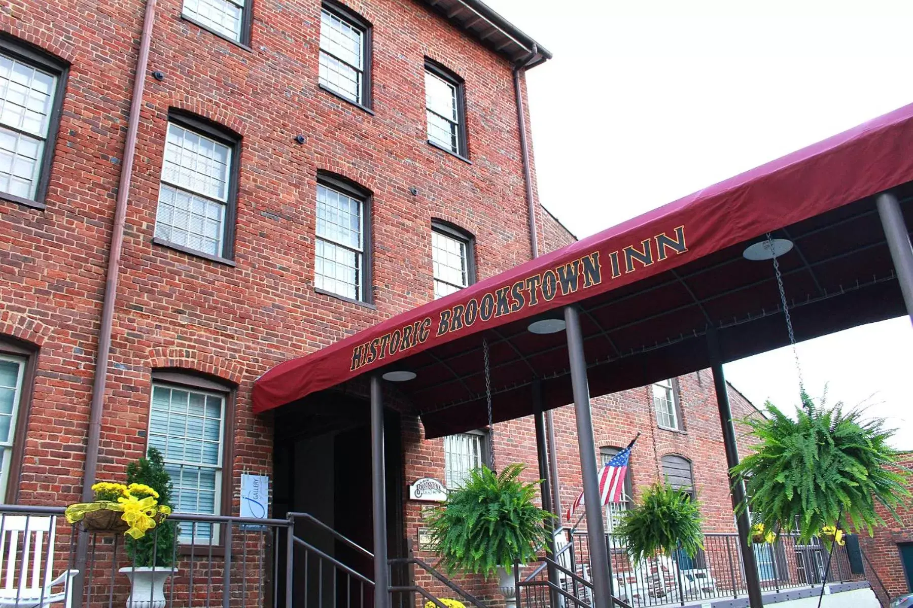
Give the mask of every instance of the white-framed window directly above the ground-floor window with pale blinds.
<path id="1" fill-rule="evenodd" d="M 169 122 L 155 236 L 224 257 L 231 162 L 230 146 Z"/>

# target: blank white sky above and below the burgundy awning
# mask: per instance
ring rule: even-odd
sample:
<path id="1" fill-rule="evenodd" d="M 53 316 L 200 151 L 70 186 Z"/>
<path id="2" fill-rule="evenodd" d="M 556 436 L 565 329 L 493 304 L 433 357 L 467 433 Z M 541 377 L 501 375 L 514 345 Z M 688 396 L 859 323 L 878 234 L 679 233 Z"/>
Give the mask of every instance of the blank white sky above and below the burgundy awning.
<path id="1" fill-rule="evenodd" d="M 488 0 L 555 58 L 529 73 L 542 203 L 599 232 L 913 102 L 913 3 Z M 913 449 L 908 318 L 799 346 L 805 385 L 887 417 Z M 791 409 L 792 352 L 726 366 Z M 871 398 L 869 398 L 871 397 Z"/>

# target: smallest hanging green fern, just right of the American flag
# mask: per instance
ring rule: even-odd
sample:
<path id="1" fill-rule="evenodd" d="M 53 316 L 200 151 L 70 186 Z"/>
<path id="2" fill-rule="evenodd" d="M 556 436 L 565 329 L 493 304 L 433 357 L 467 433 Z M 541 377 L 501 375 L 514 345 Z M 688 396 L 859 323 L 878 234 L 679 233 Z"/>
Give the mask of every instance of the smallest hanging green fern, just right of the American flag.
<path id="1" fill-rule="evenodd" d="M 645 489 L 634 509 L 624 512 L 614 534 L 635 562 L 657 552 L 671 555 L 678 549 L 694 557 L 704 548 L 702 520 L 700 505 L 687 489 L 674 489 L 668 482 L 657 481 Z"/>

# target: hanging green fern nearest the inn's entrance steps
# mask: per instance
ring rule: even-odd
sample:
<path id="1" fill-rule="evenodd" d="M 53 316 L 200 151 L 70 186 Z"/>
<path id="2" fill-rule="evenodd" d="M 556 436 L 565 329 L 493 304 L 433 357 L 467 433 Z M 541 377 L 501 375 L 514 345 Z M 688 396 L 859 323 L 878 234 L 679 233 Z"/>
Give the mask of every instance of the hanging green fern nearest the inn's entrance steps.
<path id="1" fill-rule="evenodd" d="M 535 505 L 535 483 L 520 481 L 521 464 L 496 474 L 488 467 L 473 469 L 462 488 L 426 519 L 437 554 L 447 572 L 511 570 L 514 562 L 529 562 L 545 543 L 543 521 L 551 513 Z"/>

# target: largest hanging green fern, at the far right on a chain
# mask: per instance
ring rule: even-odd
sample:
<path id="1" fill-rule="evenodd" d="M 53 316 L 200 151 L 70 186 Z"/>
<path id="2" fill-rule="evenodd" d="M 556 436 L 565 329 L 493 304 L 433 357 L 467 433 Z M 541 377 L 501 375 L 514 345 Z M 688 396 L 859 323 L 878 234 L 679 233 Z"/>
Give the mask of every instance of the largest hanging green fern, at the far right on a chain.
<path id="1" fill-rule="evenodd" d="M 801 397 L 795 420 L 768 401 L 768 418 L 744 421 L 760 443 L 732 472 L 745 480 L 751 519 L 765 530 L 797 528 L 803 541 L 838 519 L 871 534 L 885 523 L 877 504 L 897 517 L 910 497 L 906 476 L 889 469 L 898 456 L 887 443 L 894 431 L 884 419 L 845 413 L 843 404 L 827 408 L 804 391 Z"/>

